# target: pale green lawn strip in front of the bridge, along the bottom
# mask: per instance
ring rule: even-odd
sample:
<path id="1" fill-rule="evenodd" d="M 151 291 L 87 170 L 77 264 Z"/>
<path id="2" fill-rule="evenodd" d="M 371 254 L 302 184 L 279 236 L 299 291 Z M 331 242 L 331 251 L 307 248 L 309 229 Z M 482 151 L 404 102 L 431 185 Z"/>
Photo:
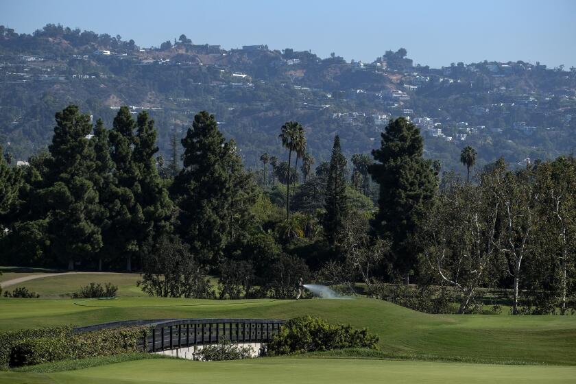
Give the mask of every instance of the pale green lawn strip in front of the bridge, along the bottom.
<path id="1" fill-rule="evenodd" d="M 0 383 L 574 383 L 575 367 L 355 359 L 128 361 L 49 374 L 0 372 Z"/>

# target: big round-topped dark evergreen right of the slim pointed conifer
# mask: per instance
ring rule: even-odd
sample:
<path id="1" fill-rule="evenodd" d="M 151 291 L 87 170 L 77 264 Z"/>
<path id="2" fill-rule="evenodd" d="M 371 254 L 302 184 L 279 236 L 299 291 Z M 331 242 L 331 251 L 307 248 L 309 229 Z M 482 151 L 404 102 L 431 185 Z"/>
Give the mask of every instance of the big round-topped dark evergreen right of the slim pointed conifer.
<path id="1" fill-rule="evenodd" d="M 377 163 L 369 171 L 380 185 L 379 211 L 372 220 L 377 235 L 392 240 L 392 264 L 408 280 L 416 265 L 410 239 L 435 196 L 437 176 L 431 160 L 424 160 L 420 130 L 399 117 L 381 134 L 381 147 L 372 151 Z"/>

